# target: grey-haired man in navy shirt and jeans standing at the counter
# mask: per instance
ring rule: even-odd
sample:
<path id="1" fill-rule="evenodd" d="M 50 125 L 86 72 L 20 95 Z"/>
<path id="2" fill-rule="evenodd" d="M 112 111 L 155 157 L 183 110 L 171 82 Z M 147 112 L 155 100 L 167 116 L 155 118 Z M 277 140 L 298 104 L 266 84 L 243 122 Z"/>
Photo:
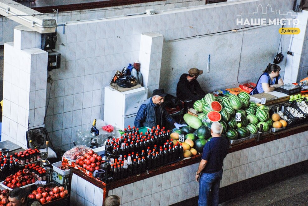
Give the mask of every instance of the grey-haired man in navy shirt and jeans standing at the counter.
<path id="1" fill-rule="evenodd" d="M 219 202 L 219 185 L 222 178 L 222 165 L 229 150 L 229 142 L 221 137 L 222 125 L 213 122 L 211 126 L 211 140 L 203 147 L 201 162 L 196 172 L 199 181 L 199 206 L 209 205 L 211 191 L 211 205 Z"/>

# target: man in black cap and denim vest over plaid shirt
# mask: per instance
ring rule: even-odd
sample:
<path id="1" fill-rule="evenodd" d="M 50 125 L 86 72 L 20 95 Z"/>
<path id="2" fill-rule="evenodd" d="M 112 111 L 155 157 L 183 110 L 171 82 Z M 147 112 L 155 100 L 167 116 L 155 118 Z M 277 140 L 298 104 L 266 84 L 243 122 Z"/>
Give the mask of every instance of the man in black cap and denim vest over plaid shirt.
<path id="1" fill-rule="evenodd" d="M 163 126 L 163 121 L 173 124 L 176 128 L 186 126 L 176 123 L 176 121 L 168 114 L 168 112 L 161 106 L 163 103 L 165 91 L 163 89 L 155 89 L 152 97 L 147 99 L 138 110 L 135 118 L 135 127 L 156 127 L 157 125 Z"/>

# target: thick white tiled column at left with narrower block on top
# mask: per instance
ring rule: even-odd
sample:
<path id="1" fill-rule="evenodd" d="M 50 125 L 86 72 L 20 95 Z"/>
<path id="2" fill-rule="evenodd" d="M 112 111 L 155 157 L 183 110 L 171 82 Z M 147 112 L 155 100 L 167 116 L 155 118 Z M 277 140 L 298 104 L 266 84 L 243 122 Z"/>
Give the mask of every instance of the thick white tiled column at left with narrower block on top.
<path id="1" fill-rule="evenodd" d="M 26 131 L 44 126 L 48 53 L 40 34 L 14 29 L 14 42 L 4 44 L 2 141 L 26 147 Z"/>

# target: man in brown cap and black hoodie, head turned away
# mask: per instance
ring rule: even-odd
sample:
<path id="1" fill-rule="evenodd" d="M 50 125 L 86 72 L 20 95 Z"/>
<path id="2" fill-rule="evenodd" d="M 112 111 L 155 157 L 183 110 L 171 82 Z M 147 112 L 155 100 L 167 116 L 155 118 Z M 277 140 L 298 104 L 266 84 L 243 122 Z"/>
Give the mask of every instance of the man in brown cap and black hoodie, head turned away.
<path id="1" fill-rule="evenodd" d="M 179 100 L 191 99 L 192 104 L 201 100 L 206 93 L 201 89 L 197 78 L 203 73 L 202 70 L 191 68 L 188 74 L 182 74 L 177 85 L 177 97 Z"/>

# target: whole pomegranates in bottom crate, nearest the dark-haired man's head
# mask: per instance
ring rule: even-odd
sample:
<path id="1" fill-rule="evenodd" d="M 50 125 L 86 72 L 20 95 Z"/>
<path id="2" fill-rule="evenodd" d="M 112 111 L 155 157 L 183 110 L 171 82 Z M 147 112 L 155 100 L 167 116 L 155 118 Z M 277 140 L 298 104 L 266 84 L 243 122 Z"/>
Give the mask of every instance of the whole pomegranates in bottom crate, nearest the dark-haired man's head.
<path id="1" fill-rule="evenodd" d="M 38 187 L 36 190 L 33 190 L 31 194 L 28 195 L 28 198 L 37 199 L 41 204 L 50 202 L 54 199 L 59 199 L 65 197 L 69 194 L 69 191 L 64 190 L 64 187 Z"/>

